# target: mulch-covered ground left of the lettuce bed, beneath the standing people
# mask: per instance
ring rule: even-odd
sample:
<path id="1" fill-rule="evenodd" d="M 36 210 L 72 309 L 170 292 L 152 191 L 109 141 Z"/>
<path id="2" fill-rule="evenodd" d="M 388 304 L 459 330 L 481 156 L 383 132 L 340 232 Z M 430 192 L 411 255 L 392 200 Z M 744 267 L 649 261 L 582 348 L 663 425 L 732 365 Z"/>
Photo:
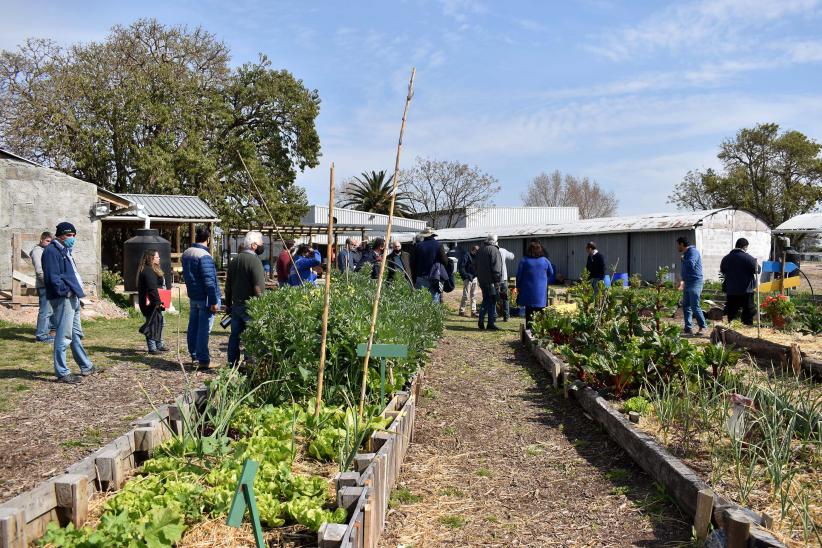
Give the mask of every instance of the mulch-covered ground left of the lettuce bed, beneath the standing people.
<path id="1" fill-rule="evenodd" d="M 92 360 L 102 361 L 105 355 L 109 365 L 79 385 L 54 382 L 52 372 L 17 373 L 31 388 L 15 398 L 11 408 L 0 411 L 0 501 L 63 473 L 67 466 L 125 434 L 132 421 L 152 410 L 152 403 L 168 403 L 182 393 L 186 380 L 176 352 L 149 356 L 145 343 L 132 338 L 133 344 L 126 348 L 119 347 L 119 341 L 118 346 L 87 341 Z M 224 334 L 212 336 L 215 364 L 225 361 L 218 350 L 225 340 Z M 169 336 L 167 344 L 176 342 Z M 185 359 L 184 340 L 182 344 Z M 70 352 L 68 358 L 76 372 Z M 199 387 L 213 375 L 213 370 L 189 372 L 188 381 Z"/>

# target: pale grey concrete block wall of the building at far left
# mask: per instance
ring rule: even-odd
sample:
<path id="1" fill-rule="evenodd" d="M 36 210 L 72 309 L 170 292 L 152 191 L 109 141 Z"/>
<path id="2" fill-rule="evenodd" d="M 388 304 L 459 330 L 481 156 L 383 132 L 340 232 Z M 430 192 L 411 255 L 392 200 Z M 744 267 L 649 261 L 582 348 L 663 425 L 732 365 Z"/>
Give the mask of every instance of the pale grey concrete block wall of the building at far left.
<path id="1" fill-rule="evenodd" d="M 77 228 L 74 257 L 88 293 L 100 288 L 101 223 L 93 218 L 97 186 L 59 171 L 0 158 L 0 289 L 11 288 L 14 233 L 54 232 L 57 223 Z M 24 241 L 23 251 L 35 245 Z M 32 270 L 33 272 L 33 270 Z"/>

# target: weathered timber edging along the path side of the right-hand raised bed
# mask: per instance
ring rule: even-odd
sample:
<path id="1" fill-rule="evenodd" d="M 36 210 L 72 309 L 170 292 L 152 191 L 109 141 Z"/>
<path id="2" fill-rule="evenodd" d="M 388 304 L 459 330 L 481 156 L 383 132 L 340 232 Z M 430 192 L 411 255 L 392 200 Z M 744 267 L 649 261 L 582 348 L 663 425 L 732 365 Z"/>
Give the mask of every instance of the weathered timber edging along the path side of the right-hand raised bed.
<path id="1" fill-rule="evenodd" d="M 523 342 L 537 361 L 545 366 L 541 354 L 551 356 L 549 375 L 554 371 L 554 363 L 562 363 L 560 370 L 568 371 L 568 366 L 555 354 L 540 347 L 529 331 L 523 329 Z M 695 518 L 701 511 L 698 500 L 700 493 L 710 491 L 708 484 L 678 458 L 671 455 L 650 434 L 635 427 L 608 401 L 590 387 L 576 382 L 570 393 L 580 407 L 599 424 L 628 455 L 655 481 L 671 493 L 677 506 L 687 515 Z M 770 532 L 762 528 L 768 519 L 753 510 L 740 507 L 713 493 L 711 517 L 714 525 L 728 529 L 731 524 L 749 523 L 748 545 L 755 548 L 785 548 Z M 699 511 L 698 511 L 699 510 Z"/>

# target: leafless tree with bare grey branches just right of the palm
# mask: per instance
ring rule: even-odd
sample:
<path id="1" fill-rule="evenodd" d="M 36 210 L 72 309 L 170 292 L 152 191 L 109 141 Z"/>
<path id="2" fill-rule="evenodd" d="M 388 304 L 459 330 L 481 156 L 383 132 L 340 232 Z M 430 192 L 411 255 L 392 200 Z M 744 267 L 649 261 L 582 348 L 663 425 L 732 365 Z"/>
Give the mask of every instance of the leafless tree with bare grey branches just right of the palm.
<path id="1" fill-rule="evenodd" d="M 411 211 L 436 228 L 456 226 L 467 208 L 494 205 L 498 183 L 477 166 L 421 157 L 400 174 L 400 186 Z"/>

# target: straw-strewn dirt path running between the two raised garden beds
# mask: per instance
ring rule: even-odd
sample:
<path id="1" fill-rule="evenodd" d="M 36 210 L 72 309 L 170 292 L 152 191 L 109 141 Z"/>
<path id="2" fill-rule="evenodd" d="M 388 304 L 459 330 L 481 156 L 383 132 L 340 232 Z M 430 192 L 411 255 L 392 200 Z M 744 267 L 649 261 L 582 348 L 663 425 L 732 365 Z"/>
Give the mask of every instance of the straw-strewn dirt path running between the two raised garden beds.
<path id="1" fill-rule="evenodd" d="M 518 341 L 452 316 L 381 545 L 676 546 L 690 525 Z"/>

